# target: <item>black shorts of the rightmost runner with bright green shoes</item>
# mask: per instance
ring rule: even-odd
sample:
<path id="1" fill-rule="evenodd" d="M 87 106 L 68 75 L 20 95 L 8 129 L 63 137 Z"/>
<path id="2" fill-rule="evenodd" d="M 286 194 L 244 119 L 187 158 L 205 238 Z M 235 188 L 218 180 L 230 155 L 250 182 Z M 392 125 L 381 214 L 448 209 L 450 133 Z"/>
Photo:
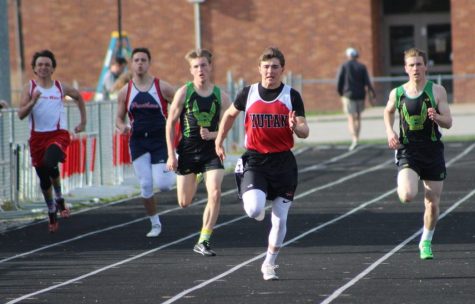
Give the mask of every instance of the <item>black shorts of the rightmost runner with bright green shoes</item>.
<path id="1" fill-rule="evenodd" d="M 447 177 L 441 141 L 402 146 L 396 151 L 396 165 L 399 171 L 414 170 L 421 180 L 443 181 Z"/>

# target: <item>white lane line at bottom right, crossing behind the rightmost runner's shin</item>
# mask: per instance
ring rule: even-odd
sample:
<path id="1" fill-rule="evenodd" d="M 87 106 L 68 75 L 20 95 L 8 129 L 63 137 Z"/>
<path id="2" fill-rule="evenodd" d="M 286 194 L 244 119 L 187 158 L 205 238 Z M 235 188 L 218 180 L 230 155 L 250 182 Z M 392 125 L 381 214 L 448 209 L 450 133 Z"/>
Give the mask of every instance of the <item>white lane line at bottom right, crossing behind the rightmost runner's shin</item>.
<path id="1" fill-rule="evenodd" d="M 466 196 L 464 196 L 462 199 L 460 199 L 459 201 L 457 201 L 455 204 L 453 204 L 449 209 L 447 209 L 440 217 L 439 217 L 439 221 L 442 220 L 447 214 L 449 214 L 450 212 L 452 212 L 452 210 L 454 210 L 455 208 L 457 208 L 459 205 L 461 205 L 463 202 L 465 202 L 466 200 L 468 200 L 469 198 L 471 198 L 473 195 L 475 194 L 475 190 L 472 190 L 472 192 L 470 192 L 469 194 L 467 194 Z M 413 235 L 411 235 L 410 237 L 408 237 L 407 239 L 405 239 L 402 243 L 400 243 L 399 245 L 397 245 L 396 247 L 394 247 L 391 251 L 389 251 L 388 253 L 386 253 L 385 255 L 383 255 L 381 258 L 379 258 L 376 262 L 374 262 L 373 264 L 371 264 L 368 268 L 366 268 L 364 271 L 360 272 L 356 277 L 354 277 L 353 279 L 351 279 L 351 281 L 349 281 L 348 283 L 346 283 L 345 285 L 341 286 L 340 288 L 338 288 L 337 290 L 335 290 L 329 297 L 327 297 L 324 301 L 320 302 L 321 304 L 329 304 L 331 302 L 333 302 L 333 300 L 335 300 L 336 298 L 338 298 L 343 292 L 345 292 L 345 290 L 347 290 L 348 288 L 352 287 L 353 285 L 355 285 L 356 283 L 358 283 L 358 281 L 360 281 L 362 278 L 364 278 L 366 275 L 368 275 L 371 271 L 373 271 L 376 267 L 378 267 L 379 265 L 381 265 L 381 263 L 383 263 L 384 261 L 386 261 L 387 259 L 389 259 L 392 255 L 394 255 L 396 252 L 398 252 L 399 250 L 401 250 L 404 246 L 406 246 L 409 242 L 411 242 L 412 240 L 414 240 L 418 235 L 420 235 L 422 232 L 422 229 L 419 229 L 417 232 L 415 232 Z"/>

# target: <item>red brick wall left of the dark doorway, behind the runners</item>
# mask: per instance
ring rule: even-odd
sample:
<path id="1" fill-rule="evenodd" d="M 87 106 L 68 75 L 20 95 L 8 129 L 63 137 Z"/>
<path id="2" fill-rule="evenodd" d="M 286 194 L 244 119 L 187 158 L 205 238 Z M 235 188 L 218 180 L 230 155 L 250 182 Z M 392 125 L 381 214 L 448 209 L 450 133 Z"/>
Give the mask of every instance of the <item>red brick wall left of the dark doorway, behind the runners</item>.
<path id="1" fill-rule="evenodd" d="M 110 34 L 117 29 L 116 4 L 23 0 L 25 79 L 32 77 L 32 54 L 49 48 L 58 59 L 57 78 L 95 88 Z M 14 1 L 8 5 L 13 78 L 18 80 Z M 183 56 L 195 44 L 193 5 L 187 0 L 127 0 L 122 11 L 132 47 L 152 51 L 151 72 L 176 85 L 190 79 Z M 257 58 L 269 45 L 282 49 L 287 72 L 304 79 L 334 78 L 348 46 L 359 49 L 371 75 L 381 75 L 379 0 L 206 0 L 201 17 L 202 45 L 215 55 L 219 85 L 225 84 L 227 71 L 247 83 L 258 81 Z M 305 84 L 303 97 L 309 111 L 340 108 L 334 84 Z"/>

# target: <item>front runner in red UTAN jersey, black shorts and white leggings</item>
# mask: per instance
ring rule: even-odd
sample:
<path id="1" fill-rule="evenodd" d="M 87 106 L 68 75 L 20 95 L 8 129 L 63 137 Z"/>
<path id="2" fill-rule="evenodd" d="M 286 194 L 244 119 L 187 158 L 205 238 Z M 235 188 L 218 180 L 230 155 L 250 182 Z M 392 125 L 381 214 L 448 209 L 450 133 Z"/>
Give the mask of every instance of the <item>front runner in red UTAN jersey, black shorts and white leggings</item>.
<path id="1" fill-rule="evenodd" d="M 239 195 L 246 214 L 258 221 L 265 217 L 266 200 L 272 201 L 272 228 L 264 280 L 277 280 L 277 255 L 287 231 L 287 215 L 294 199 L 298 170 L 291 151 L 295 134 L 306 138 L 309 128 L 300 94 L 282 83 L 285 58 L 270 47 L 259 57 L 261 82 L 245 87 L 223 116 L 216 138 L 216 153 L 224 160 L 224 139 L 240 111 L 245 112 L 246 152 L 236 165 Z"/>

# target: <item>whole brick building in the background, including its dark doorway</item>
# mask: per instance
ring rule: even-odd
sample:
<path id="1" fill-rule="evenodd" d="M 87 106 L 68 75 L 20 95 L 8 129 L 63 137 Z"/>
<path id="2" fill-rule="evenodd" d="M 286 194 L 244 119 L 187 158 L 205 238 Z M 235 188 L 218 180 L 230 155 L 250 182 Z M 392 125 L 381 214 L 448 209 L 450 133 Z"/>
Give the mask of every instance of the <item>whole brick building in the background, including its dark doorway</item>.
<path id="1" fill-rule="evenodd" d="M 117 30 L 117 0 L 21 1 L 26 66 L 21 81 L 17 1 L 7 2 L 14 89 L 32 76 L 31 56 L 44 48 L 57 56 L 57 78 L 95 88 Z M 225 85 L 228 71 L 247 83 L 259 80 L 257 57 L 276 45 L 286 56 L 286 71 L 304 79 L 310 111 L 340 108 L 334 84 L 318 80 L 334 79 L 348 46 L 359 49 L 372 76 L 402 75 L 401 51 L 413 45 L 429 50 L 434 73 L 475 73 L 472 0 L 205 0 L 199 7 L 201 45 L 215 55 L 217 84 Z M 195 46 L 194 4 L 123 0 L 122 15 L 132 47 L 152 51 L 153 74 L 177 85 L 190 79 L 183 56 Z M 474 84 L 469 77 L 450 83 L 453 101 L 474 102 Z M 387 88 L 380 89 L 378 102 L 384 103 Z"/>

